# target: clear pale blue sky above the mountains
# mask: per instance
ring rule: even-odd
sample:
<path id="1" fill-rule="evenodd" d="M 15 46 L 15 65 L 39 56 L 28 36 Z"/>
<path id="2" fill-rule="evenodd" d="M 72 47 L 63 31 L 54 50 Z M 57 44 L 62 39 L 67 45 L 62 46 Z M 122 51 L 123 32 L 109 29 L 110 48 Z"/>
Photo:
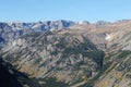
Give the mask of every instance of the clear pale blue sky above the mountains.
<path id="1" fill-rule="evenodd" d="M 0 0 L 0 22 L 131 20 L 131 0 Z"/>

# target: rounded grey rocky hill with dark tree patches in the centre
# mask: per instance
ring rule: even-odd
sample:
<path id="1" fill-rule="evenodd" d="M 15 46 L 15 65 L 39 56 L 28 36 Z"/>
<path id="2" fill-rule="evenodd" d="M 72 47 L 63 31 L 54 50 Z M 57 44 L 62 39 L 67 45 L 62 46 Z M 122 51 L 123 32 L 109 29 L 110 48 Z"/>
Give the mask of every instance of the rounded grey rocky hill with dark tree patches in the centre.
<path id="1" fill-rule="evenodd" d="M 24 36 L 2 54 L 33 77 L 51 76 L 72 84 L 95 74 L 103 66 L 104 52 L 82 35 L 61 33 Z"/>

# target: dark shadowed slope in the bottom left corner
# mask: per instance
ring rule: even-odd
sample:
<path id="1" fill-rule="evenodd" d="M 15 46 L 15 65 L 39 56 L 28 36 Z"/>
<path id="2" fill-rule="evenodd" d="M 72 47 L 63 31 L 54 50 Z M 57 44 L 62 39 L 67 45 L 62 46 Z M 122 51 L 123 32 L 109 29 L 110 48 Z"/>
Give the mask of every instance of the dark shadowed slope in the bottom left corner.
<path id="1" fill-rule="evenodd" d="M 0 58 L 0 87 L 40 87 Z"/>

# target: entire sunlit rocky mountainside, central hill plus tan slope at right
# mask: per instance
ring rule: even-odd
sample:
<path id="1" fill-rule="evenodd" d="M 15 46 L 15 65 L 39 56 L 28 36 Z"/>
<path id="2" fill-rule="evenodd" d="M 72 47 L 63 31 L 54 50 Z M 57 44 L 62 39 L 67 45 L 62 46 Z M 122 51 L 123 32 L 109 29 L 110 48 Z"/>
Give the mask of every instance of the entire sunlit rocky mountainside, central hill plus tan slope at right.
<path id="1" fill-rule="evenodd" d="M 0 53 L 44 87 L 130 87 L 130 28 L 131 21 L 121 21 L 35 30 L 4 44 Z"/>

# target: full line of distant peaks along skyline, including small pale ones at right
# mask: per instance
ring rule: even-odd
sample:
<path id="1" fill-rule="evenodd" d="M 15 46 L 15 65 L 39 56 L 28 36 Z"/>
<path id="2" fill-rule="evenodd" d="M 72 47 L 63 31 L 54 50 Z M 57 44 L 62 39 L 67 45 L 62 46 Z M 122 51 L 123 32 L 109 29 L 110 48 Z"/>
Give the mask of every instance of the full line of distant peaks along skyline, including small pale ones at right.
<path id="1" fill-rule="evenodd" d="M 116 23 L 129 22 L 130 20 L 121 20 Z M 36 23 L 19 23 L 19 22 L 0 22 L 0 42 L 14 40 L 20 36 L 35 33 L 35 32 L 52 32 L 60 29 L 68 29 L 76 25 L 95 25 L 95 27 L 103 27 L 104 25 L 110 24 L 109 22 L 98 21 L 96 23 L 90 23 L 87 21 L 46 21 L 46 22 L 36 22 Z"/>

